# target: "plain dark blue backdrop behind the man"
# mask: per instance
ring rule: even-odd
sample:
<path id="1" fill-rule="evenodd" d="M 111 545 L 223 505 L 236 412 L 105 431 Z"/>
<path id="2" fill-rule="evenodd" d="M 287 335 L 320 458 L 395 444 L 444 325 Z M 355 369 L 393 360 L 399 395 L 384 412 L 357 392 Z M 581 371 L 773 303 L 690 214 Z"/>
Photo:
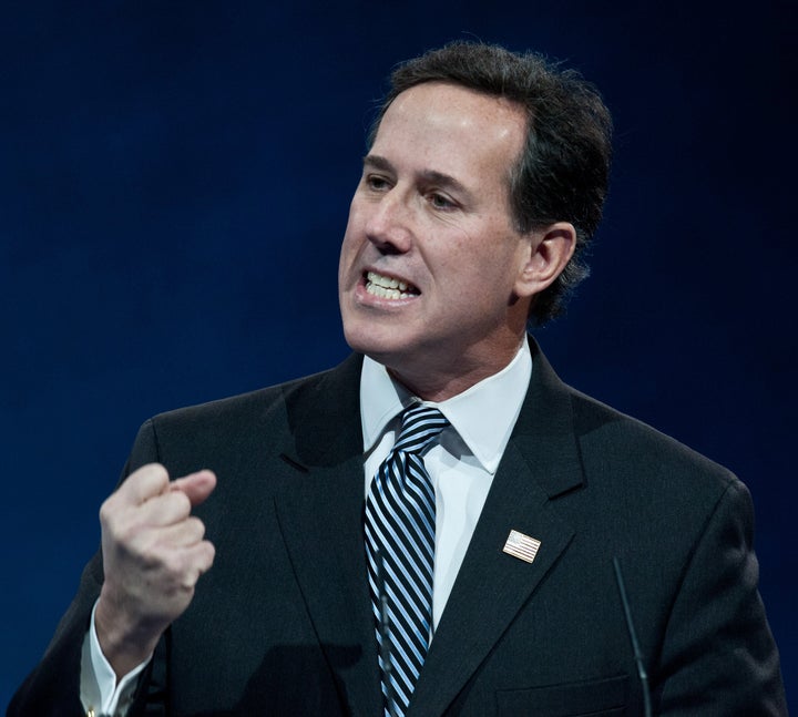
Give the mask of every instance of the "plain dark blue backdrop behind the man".
<path id="1" fill-rule="evenodd" d="M 564 379 L 735 470 L 798 689 L 792 2 L 3 3 L 0 705 L 157 411 L 347 354 L 336 266 L 391 65 L 454 38 L 602 89 L 593 277 L 538 332 Z"/>

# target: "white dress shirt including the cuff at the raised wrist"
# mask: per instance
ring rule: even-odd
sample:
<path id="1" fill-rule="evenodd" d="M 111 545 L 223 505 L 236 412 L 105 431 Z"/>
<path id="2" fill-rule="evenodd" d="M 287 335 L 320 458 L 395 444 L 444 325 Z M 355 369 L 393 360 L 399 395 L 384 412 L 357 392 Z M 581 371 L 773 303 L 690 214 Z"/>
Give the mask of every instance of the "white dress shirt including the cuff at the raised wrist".
<path id="1" fill-rule="evenodd" d="M 434 406 L 449 420 L 440 440 L 424 455 L 436 489 L 436 556 L 432 587 L 433 632 L 443 613 L 471 535 L 488 498 L 493 475 L 521 411 L 532 355 L 522 342 L 501 371 Z M 399 414 L 419 399 L 395 381 L 385 366 L 364 359 L 360 375 L 360 420 L 364 434 L 365 492 L 396 441 Z M 149 660 L 147 660 L 149 662 Z M 92 623 L 83 642 L 81 701 L 89 714 L 123 716 L 135 692 L 139 665 L 116 683 Z"/>

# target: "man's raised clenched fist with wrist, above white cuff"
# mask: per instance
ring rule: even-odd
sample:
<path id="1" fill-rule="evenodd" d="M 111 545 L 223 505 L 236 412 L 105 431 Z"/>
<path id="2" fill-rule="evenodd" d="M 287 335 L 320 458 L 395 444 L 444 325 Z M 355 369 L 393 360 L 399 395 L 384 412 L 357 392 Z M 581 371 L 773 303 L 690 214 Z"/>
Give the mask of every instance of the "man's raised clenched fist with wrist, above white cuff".
<path id="1" fill-rule="evenodd" d="M 215 486 L 211 471 L 170 482 L 163 465 L 150 463 L 100 509 L 105 581 L 94 618 L 117 678 L 150 657 L 213 565 L 214 546 L 191 511 Z"/>

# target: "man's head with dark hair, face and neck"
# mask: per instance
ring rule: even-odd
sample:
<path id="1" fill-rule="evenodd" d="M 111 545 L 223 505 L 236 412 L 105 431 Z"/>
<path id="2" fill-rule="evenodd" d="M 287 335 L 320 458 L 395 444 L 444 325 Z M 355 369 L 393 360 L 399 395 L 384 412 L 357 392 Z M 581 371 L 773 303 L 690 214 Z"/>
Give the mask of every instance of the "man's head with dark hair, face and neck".
<path id="1" fill-rule="evenodd" d="M 462 66 L 483 54 L 482 70 Z M 600 202 L 583 208 L 587 143 L 571 132 L 566 152 L 551 126 L 567 124 L 564 85 L 586 91 L 513 58 L 450 45 L 400 68 L 352 197 L 339 266 L 347 340 L 422 398 L 442 400 L 509 363 L 530 315 L 554 313 L 566 287 L 541 297 L 598 221 Z M 453 79 L 474 73 L 479 82 Z M 530 109 L 552 94 L 556 112 Z"/>

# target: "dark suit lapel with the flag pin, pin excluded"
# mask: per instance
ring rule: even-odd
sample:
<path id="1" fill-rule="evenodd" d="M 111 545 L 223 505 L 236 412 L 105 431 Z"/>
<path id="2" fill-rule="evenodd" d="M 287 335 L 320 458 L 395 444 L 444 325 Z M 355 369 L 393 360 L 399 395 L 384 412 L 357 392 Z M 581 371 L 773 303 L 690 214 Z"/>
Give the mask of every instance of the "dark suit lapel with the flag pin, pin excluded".
<path id="1" fill-rule="evenodd" d="M 408 717 L 442 714 L 566 550 L 552 499 L 583 484 L 567 389 L 532 341 L 533 375 L 427 656 Z M 502 551 L 511 530 L 540 541 L 533 563 Z"/>

